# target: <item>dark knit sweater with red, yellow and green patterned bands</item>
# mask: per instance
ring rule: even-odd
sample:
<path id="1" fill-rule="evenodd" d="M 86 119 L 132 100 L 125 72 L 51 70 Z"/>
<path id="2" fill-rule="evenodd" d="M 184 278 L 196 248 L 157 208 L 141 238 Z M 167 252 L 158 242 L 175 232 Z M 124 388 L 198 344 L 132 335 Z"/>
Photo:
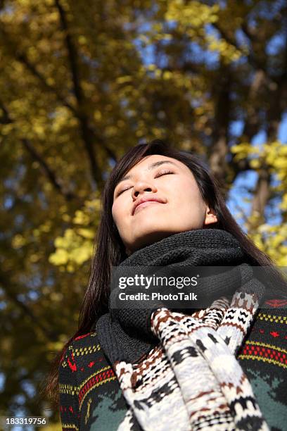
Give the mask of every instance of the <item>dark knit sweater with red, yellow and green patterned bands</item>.
<path id="1" fill-rule="evenodd" d="M 264 303 L 236 357 L 270 430 L 287 430 L 287 301 Z M 63 431 L 117 430 L 125 418 L 128 406 L 96 331 L 68 346 L 59 385 Z"/>

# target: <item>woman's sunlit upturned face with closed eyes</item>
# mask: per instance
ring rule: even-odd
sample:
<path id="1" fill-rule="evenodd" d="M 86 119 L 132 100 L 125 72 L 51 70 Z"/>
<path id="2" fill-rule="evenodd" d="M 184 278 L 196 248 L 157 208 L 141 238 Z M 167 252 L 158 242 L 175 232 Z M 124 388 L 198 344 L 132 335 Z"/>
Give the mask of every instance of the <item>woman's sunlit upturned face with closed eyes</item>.
<path id="1" fill-rule="evenodd" d="M 158 201 L 136 206 L 141 199 Z M 158 154 L 142 158 L 117 183 L 112 213 L 128 255 L 172 234 L 217 222 L 191 170 Z"/>

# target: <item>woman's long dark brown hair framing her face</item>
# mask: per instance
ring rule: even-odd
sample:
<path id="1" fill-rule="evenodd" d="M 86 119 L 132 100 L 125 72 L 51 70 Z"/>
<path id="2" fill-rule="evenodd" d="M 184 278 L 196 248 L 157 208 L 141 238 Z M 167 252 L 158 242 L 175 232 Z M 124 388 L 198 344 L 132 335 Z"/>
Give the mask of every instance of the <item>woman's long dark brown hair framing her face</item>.
<path id="1" fill-rule="evenodd" d="M 125 246 L 113 221 L 112 206 L 115 186 L 141 158 L 153 154 L 175 158 L 191 170 L 205 204 L 213 208 L 217 215 L 217 223 L 208 225 L 208 228 L 223 229 L 234 235 L 245 252 L 250 256 L 250 262 L 254 266 L 269 266 L 282 285 L 283 279 L 280 273 L 277 273 L 274 261 L 267 254 L 260 251 L 245 232 L 243 232 L 238 223 L 236 223 L 236 220 L 224 202 L 222 193 L 219 190 L 219 183 L 212 173 L 210 173 L 208 165 L 199 156 L 190 154 L 187 151 L 174 149 L 170 144 L 162 142 L 160 139 L 155 139 L 148 144 L 139 144 L 132 147 L 114 166 L 103 189 L 101 222 L 94 244 L 95 252 L 91 261 L 89 285 L 79 311 L 78 330 L 68 339 L 63 349 L 54 358 L 51 372 L 46 380 L 44 393 L 55 406 L 59 404 L 58 368 L 60 366 L 60 359 L 70 342 L 72 342 L 72 339 L 87 334 L 91 330 L 91 325 L 108 311 L 111 267 L 117 266 L 127 258 Z M 278 283 L 276 285 L 278 286 Z"/>

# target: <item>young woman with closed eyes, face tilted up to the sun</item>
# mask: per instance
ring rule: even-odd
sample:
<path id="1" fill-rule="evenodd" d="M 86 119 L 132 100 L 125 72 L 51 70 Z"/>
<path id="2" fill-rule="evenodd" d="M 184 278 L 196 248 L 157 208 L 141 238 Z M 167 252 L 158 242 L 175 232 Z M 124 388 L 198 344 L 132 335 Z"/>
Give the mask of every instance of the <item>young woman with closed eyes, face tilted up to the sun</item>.
<path id="1" fill-rule="evenodd" d="M 208 306 L 111 305 L 113 268 L 186 265 L 232 267 L 200 286 Z M 286 292 L 200 158 L 160 140 L 130 149 L 103 190 L 79 329 L 53 364 L 63 430 L 286 429 Z"/>

